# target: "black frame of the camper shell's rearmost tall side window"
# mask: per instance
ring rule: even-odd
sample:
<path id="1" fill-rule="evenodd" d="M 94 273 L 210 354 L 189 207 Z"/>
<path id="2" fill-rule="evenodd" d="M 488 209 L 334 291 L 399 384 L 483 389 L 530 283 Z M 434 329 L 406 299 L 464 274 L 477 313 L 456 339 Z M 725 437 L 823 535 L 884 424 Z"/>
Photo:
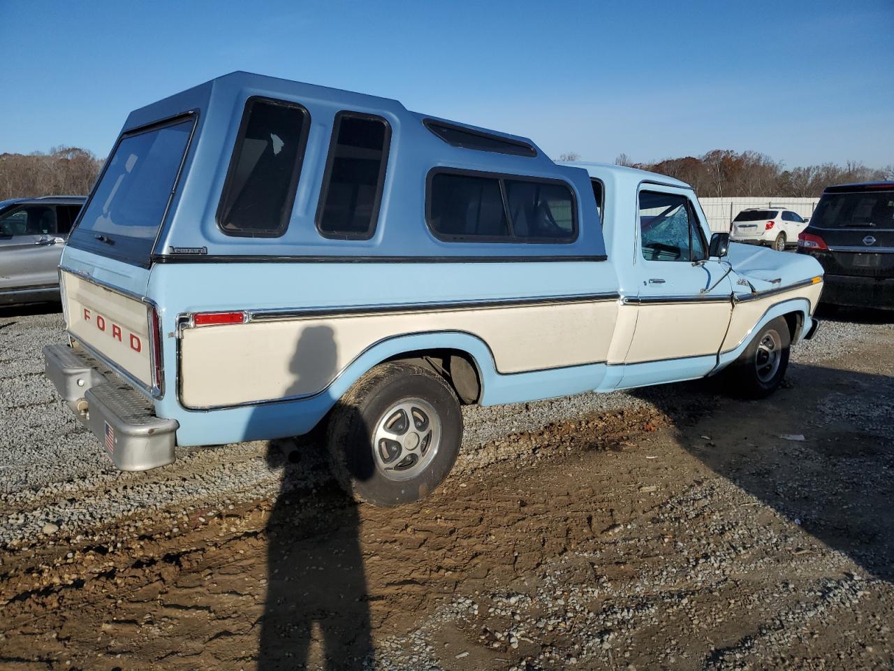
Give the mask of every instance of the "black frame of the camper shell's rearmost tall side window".
<path id="1" fill-rule="evenodd" d="M 297 160 L 295 162 L 294 168 L 292 169 L 289 187 L 286 192 L 286 200 L 283 204 L 283 215 L 280 220 L 280 225 L 275 230 L 261 233 L 258 233 L 257 231 L 252 233 L 249 232 L 249 229 L 227 230 L 221 223 L 221 217 L 223 215 L 223 202 L 227 195 L 227 192 L 232 186 L 234 168 L 239 163 L 239 159 L 242 155 L 240 140 L 245 139 L 245 132 L 249 125 L 249 115 L 247 115 L 246 112 L 249 110 L 249 106 L 254 105 L 256 102 L 264 102 L 281 107 L 290 107 L 291 109 L 299 110 L 304 115 L 304 123 L 301 126 L 301 135 L 298 144 Z M 242 106 L 242 116 L 239 122 L 239 129 L 236 131 L 236 139 L 233 142 L 232 149 L 230 150 L 230 160 L 227 163 L 226 177 L 224 178 L 223 188 L 221 189 L 221 195 L 217 201 L 217 208 L 215 210 L 215 224 L 217 225 L 217 228 L 221 233 L 232 238 L 281 238 L 284 234 L 286 234 L 286 232 L 289 230 L 292 210 L 295 208 L 295 200 L 298 193 L 301 171 L 304 168 L 304 158 L 308 149 L 308 135 L 310 134 L 311 123 L 312 118 L 310 115 L 310 110 L 308 110 L 306 106 L 303 106 L 293 100 L 270 98 L 268 96 L 249 96 L 249 98 L 245 99 L 245 104 Z M 238 154 L 237 149 L 239 149 Z"/>

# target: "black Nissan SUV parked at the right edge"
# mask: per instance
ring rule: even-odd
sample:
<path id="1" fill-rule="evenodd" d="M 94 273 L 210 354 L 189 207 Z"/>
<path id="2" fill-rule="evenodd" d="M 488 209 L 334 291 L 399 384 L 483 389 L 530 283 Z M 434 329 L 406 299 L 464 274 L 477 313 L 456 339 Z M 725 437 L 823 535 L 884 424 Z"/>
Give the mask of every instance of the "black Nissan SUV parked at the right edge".
<path id="1" fill-rule="evenodd" d="M 825 269 L 823 303 L 894 310 L 894 182 L 828 187 L 797 251 Z"/>

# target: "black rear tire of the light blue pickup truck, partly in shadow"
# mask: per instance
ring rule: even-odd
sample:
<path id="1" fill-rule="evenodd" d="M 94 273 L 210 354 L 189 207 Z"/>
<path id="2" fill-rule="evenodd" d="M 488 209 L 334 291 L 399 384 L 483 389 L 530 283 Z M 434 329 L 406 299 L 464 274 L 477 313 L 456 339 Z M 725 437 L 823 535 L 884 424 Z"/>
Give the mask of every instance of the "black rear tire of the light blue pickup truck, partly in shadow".
<path id="1" fill-rule="evenodd" d="M 434 445 L 434 453 L 426 454 L 426 438 L 420 431 L 415 415 L 404 422 L 407 436 L 415 433 L 415 445 L 395 443 L 400 459 L 395 459 L 394 467 L 382 464 L 381 454 L 386 454 L 386 446 L 382 446 L 380 455 L 375 454 L 376 446 L 373 437 L 376 427 L 387 422 L 385 413 L 400 413 L 394 410 L 402 403 L 412 404 L 408 399 L 421 400 L 426 403 L 426 412 L 434 412 L 434 417 L 427 418 L 431 424 L 424 425 L 438 428 L 439 439 L 434 438 L 428 448 Z M 406 414 L 403 415 L 407 417 Z M 329 420 L 327 446 L 333 475 L 338 483 L 351 497 L 373 505 L 401 505 L 412 503 L 428 496 L 440 485 L 450 473 L 457 454 L 460 453 L 462 440 L 462 413 L 460 403 L 453 394 L 451 386 L 431 369 L 402 361 L 383 363 L 370 370 L 363 378 L 352 386 L 335 404 Z M 410 454 L 416 447 L 418 453 Z M 404 457 L 403 455 L 407 456 Z M 426 454 L 422 456 L 422 454 Z M 397 471 L 401 463 L 411 456 L 417 456 L 417 462 L 407 471 Z M 413 472 L 412 469 L 422 469 Z M 391 475 L 386 475 L 390 471 Z M 395 480 L 402 477 L 403 480 Z"/>

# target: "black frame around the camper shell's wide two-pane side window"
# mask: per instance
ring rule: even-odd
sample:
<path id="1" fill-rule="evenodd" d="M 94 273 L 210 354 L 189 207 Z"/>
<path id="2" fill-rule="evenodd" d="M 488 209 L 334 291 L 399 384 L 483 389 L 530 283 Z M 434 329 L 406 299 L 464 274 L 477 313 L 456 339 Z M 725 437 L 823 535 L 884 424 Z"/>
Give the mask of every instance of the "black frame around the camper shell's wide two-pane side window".
<path id="1" fill-rule="evenodd" d="M 434 177 L 438 174 L 459 174 L 465 177 L 484 177 L 497 180 L 500 187 L 500 196 L 502 198 L 503 216 L 506 217 L 506 224 L 509 227 L 509 236 L 497 235 L 445 235 L 435 230 L 432 225 L 432 183 Z M 512 217 L 510 217 L 509 209 L 509 193 L 506 190 L 504 182 L 506 180 L 515 182 L 539 182 L 549 184 L 561 184 L 568 189 L 571 196 L 571 233 L 567 238 L 524 238 L 515 234 L 515 227 L 512 225 Z M 536 177 L 527 174 L 512 173 L 493 173 L 485 170 L 471 170 L 468 168 L 457 168 L 450 166 L 434 166 L 426 174 L 426 227 L 428 232 L 434 236 L 436 240 L 441 242 L 488 242 L 502 244 L 573 244 L 578 242 L 580 237 L 580 225 L 578 217 L 578 195 L 574 189 L 574 185 L 557 177 Z"/>

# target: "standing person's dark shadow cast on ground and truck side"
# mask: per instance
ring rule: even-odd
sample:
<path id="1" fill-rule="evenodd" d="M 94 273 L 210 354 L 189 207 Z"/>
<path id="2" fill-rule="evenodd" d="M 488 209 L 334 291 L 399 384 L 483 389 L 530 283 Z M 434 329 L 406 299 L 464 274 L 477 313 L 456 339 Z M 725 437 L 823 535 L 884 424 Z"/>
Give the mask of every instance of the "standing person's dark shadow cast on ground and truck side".
<path id="1" fill-rule="evenodd" d="M 330 327 L 305 328 L 285 395 L 299 395 L 308 380 L 332 378 L 336 352 Z M 257 668 L 361 668 L 373 646 L 358 508 L 329 478 L 325 426 L 293 444 L 271 441 L 267 463 L 283 469 L 283 480 L 266 525 L 268 582 Z"/>

